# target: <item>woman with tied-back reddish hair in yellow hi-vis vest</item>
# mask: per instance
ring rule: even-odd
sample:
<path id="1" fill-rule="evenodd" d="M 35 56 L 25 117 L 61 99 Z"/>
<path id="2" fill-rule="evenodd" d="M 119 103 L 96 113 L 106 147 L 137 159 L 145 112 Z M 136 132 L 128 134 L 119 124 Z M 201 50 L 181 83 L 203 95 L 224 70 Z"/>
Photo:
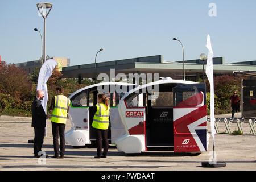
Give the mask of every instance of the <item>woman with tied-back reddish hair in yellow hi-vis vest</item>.
<path id="1" fill-rule="evenodd" d="M 92 114 L 94 117 L 92 127 L 95 130 L 97 144 L 97 155 L 94 156 L 94 158 L 106 158 L 108 153 L 108 128 L 110 115 L 110 107 L 108 102 L 108 98 L 106 98 L 104 94 L 100 93 L 97 96 L 98 104 L 93 106 Z M 101 155 L 102 143 L 104 147 L 103 155 Z"/>

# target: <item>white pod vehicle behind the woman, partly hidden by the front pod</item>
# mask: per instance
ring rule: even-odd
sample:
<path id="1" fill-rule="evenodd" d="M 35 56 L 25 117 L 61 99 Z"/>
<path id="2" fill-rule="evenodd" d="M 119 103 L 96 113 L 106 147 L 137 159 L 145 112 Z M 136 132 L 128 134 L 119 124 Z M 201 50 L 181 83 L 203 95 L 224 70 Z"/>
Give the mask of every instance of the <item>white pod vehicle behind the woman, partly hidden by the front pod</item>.
<path id="1" fill-rule="evenodd" d="M 65 142 L 73 147 L 85 146 L 96 141 L 92 128 L 93 116 L 90 112 L 97 104 L 97 94 L 105 93 L 109 98 L 110 125 L 108 138 L 111 143 L 125 133 L 121 118 L 118 113 L 118 103 L 122 96 L 130 89 L 134 89 L 135 84 L 123 82 L 101 82 L 89 85 L 77 90 L 69 96 L 71 105 L 69 107 L 69 119 L 72 124 L 71 130 L 65 133 Z"/>

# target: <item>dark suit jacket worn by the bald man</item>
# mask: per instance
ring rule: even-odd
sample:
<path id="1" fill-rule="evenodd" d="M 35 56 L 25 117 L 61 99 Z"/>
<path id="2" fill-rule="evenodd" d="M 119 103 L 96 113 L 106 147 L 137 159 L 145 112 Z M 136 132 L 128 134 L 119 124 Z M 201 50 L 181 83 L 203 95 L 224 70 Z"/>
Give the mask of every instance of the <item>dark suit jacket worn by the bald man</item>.
<path id="1" fill-rule="evenodd" d="M 32 111 L 32 127 L 46 127 L 46 113 L 43 106 L 37 98 L 31 105 Z"/>

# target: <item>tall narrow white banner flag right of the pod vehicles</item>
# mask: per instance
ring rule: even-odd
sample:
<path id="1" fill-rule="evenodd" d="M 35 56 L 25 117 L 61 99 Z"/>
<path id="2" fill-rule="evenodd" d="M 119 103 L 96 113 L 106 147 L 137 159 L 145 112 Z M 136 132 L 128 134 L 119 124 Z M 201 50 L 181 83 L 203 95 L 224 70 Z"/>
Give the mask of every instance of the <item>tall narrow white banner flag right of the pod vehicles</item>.
<path id="1" fill-rule="evenodd" d="M 213 137 L 213 146 L 215 146 L 215 138 L 214 135 L 216 134 L 214 123 L 214 82 L 213 82 L 213 51 L 212 51 L 212 44 L 210 42 L 210 36 L 207 35 L 207 44 L 206 47 L 208 48 L 208 58 L 207 58 L 207 65 L 205 69 L 205 73 L 210 83 L 210 128 L 212 130 L 212 137 Z"/>

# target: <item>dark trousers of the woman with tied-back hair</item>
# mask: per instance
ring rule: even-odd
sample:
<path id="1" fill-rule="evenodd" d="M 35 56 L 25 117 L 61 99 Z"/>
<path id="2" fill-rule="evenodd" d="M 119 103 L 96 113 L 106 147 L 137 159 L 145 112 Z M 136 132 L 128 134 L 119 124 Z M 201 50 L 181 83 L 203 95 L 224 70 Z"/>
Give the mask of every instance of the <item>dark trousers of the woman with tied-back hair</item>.
<path id="1" fill-rule="evenodd" d="M 95 128 L 94 130 L 96 134 L 97 156 L 101 156 L 102 143 L 104 148 L 103 156 L 106 156 L 109 148 L 108 130 L 101 130 L 101 129 L 95 129 Z"/>

